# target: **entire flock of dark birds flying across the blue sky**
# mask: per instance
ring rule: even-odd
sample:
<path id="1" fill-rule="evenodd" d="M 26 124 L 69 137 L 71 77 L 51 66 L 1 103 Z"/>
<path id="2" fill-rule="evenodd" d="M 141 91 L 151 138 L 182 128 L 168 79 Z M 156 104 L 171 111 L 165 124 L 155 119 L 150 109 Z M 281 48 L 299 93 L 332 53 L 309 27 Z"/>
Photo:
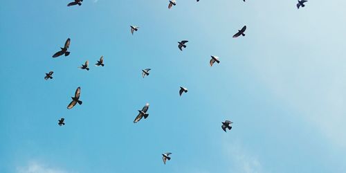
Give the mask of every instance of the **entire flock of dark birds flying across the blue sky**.
<path id="1" fill-rule="evenodd" d="M 78 5 L 78 6 L 81 6 L 82 5 L 82 1 L 83 0 L 75 0 L 71 3 L 69 3 L 67 6 L 75 6 L 75 5 Z M 245 2 L 245 0 L 243 0 Z M 197 2 L 199 2 L 199 0 L 197 0 Z M 299 9 L 300 7 L 304 7 L 304 3 L 306 3 L 307 0 L 301 0 L 299 1 L 298 0 L 298 3 L 297 3 L 297 8 Z M 172 0 L 170 1 L 170 3 L 168 4 L 168 8 L 171 9 L 172 6 L 176 6 L 176 0 Z M 134 32 L 138 31 L 138 26 L 130 26 L 131 28 L 131 34 L 134 35 Z M 237 38 L 239 36 L 245 36 L 245 30 L 246 30 L 246 26 L 244 26 L 241 30 L 238 30 L 237 33 L 235 33 L 235 35 L 233 35 L 233 38 Z M 70 52 L 68 51 L 69 50 L 69 46 L 70 46 L 70 43 L 71 43 L 71 39 L 68 38 L 64 44 L 64 47 L 61 48 L 60 51 L 58 51 L 57 53 L 55 53 L 52 57 L 55 58 L 55 57 L 60 57 L 61 55 L 65 55 L 66 56 L 69 56 L 70 55 Z M 178 42 L 178 48 L 180 49 L 180 51 L 183 51 L 183 48 L 186 48 L 186 44 L 188 43 L 188 40 L 182 40 L 181 42 Z M 219 61 L 219 57 L 217 56 L 214 56 L 212 55 L 211 56 L 211 60 L 210 60 L 210 66 L 212 66 L 215 62 L 217 62 L 217 64 L 220 63 Z M 98 60 L 98 62 L 95 64 L 95 66 L 104 66 L 104 63 L 103 63 L 103 56 L 100 57 L 100 60 Z M 89 71 L 89 61 L 86 61 L 84 64 L 82 64 L 82 66 L 78 67 L 80 69 L 85 69 L 86 71 Z M 143 78 L 145 78 L 145 76 L 149 75 L 149 71 L 151 69 L 144 69 L 142 70 L 142 76 Z M 49 79 L 53 79 L 53 71 L 50 71 L 49 73 L 46 73 L 46 76 L 44 77 L 45 80 L 49 80 Z M 180 90 L 179 90 L 179 95 L 181 96 L 183 93 L 187 93 L 188 92 L 188 89 L 183 87 L 183 86 L 180 86 Z M 67 106 L 67 109 L 72 109 L 73 107 L 75 107 L 75 105 L 78 103 L 78 104 L 82 104 L 82 101 L 80 100 L 80 87 L 78 87 L 76 90 L 75 90 L 75 95 L 74 97 L 71 97 L 72 98 L 72 101 L 69 103 L 69 105 Z M 147 113 L 149 109 L 149 103 L 145 104 L 145 106 L 143 107 L 143 109 L 141 110 L 138 110 L 138 116 L 136 116 L 136 118 L 134 119 L 134 123 L 136 122 L 139 122 L 143 117 L 146 119 L 148 116 L 149 116 L 149 113 Z M 58 120 L 58 125 L 62 126 L 62 125 L 65 125 L 65 122 L 64 122 L 64 118 L 61 118 L 60 120 Z M 225 120 L 225 122 L 221 122 L 222 125 L 221 125 L 221 129 L 223 129 L 225 132 L 226 129 L 230 130 L 232 129 L 232 124 L 233 122 L 230 121 L 230 120 Z M 170 161 L 170 152 L 166 152 L 166 153 L 163 153 L 162 156 L 163 156 L 163 163 L 165 164 L 166 161 Z"/>

